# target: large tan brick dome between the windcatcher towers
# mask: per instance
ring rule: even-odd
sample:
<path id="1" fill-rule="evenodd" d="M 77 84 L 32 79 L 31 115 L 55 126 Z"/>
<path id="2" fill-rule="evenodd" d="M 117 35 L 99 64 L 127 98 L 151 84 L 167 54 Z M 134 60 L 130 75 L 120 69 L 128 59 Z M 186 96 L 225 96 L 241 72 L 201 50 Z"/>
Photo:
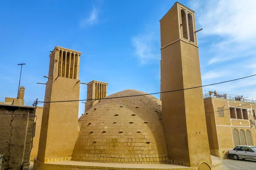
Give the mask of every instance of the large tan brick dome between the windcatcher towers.
<path id="1" fill-rule="evenodd" d="M 72 160 L 166 163 L 161 101 L 137 90 L 102 99 L 79 118 Z M 121 96 L 133 96 L 108 99 Z"/>

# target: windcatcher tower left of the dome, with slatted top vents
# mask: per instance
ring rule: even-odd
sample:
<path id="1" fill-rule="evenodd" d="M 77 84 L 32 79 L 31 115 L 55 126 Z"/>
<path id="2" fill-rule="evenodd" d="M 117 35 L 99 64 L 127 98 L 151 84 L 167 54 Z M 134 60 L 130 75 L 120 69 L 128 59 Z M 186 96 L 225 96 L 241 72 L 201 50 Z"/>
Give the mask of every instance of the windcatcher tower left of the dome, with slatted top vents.
<path id="1" fill-rule="evenodd" d="M 56 46 L 51 51 L 37 160 L 70 160 L 79 135 L 79 60 L 81 52 Z"/>

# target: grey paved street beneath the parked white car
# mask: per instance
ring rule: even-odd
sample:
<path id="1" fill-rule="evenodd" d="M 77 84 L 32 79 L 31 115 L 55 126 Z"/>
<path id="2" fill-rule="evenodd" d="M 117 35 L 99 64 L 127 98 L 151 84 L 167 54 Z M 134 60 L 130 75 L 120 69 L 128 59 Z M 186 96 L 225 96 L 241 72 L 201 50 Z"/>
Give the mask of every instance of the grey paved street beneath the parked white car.
<path id="1" fill-rule="evenodd" d="M 224 159 L 222 160 L 223 170 L 255 170 L 256 160 L 242 160 L 238 161 L 234 159 Z"/>

